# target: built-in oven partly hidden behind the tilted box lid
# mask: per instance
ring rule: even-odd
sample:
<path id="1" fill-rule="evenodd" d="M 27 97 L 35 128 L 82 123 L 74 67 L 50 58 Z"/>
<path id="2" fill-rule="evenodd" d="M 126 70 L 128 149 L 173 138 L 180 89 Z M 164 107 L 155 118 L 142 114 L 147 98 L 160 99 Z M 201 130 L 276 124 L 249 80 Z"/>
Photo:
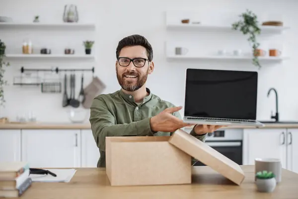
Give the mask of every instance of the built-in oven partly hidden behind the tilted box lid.
<path id="1" fill-rule="evenodd" d="M 242 165 L 243 133 L 241 129 L 224 129 L 208 133 L 205 143 L 235 163 Z M 193 166 L 205 166 L 205 164 L 198 161 Z"/>

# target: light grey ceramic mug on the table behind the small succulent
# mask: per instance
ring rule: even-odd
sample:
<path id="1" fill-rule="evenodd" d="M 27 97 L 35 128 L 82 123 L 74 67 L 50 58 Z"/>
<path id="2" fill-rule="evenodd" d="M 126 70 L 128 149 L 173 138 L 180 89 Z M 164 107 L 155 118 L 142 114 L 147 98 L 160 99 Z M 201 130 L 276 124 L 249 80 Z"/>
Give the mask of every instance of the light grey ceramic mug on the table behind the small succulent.
<path id="1" fill-rule="evenodd" d="M 282 163 L 278 158 L 256 158 L 255 159 L 255 175 L 259 171 L 272 172 L 275 175 L 277 183 L 282 181 Z M 255 177 L 256 181 L 256 177 Z"/>

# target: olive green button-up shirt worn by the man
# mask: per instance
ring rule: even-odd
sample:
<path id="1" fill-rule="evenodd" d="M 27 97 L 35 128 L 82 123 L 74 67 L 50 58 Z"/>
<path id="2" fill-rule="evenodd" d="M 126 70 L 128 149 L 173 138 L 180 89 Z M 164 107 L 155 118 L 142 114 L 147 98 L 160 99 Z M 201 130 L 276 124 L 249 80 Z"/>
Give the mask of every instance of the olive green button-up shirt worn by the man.
<path id="1" fill-rule="evenodd" d="M 106 136 L 170 136 L 173 133 L 151 131 L 150 117 L 168 107 L 175 107 L 175 105 L 151 94 L 149 89 L 147 92 L 149 95 L 144 98 L 142 103 L 136 103 L 134 96 L 128 95 L 122 90 L 94 98 L 90 107 L 89 121 L 100 152 L 97 167 L 105 167 Z M 172 114 L 181 119 L 178 111 Z M 207 134 L 197 135 L 194 129 L 190 134 L 203 142 L 207 136 Z"/>

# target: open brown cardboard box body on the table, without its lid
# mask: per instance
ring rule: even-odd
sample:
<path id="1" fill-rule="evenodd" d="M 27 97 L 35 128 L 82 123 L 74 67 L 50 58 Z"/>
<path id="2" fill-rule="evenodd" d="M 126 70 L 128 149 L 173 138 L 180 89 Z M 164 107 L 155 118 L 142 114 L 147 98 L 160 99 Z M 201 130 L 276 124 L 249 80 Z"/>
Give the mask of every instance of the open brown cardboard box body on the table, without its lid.
<path id="1" fill-rule="evenodd" d="M 191 156 L 169 136 L 106 137 L 106 173 L 112 186 L 191 183 Z"/>

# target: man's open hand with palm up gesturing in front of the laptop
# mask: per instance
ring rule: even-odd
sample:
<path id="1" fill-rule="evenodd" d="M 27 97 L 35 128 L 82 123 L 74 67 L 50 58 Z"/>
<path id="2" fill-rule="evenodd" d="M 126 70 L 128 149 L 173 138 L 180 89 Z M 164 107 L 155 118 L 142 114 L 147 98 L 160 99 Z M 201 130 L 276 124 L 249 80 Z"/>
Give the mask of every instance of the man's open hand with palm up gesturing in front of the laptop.
<path id="1" fill-rule="evenodd" d="M 162 131 L 162 132 L 174 132 L 179 128 L 183 128 L 185 126 L 192 126 L 192 124 L 188 124 L 183 122 L 183 120 L 175 117 L 171 113 L 180 110 L 182 106 L 166 108 L 158 115 L 151 117 L 150 119 L 150 127 L 154 132 Z"/>

